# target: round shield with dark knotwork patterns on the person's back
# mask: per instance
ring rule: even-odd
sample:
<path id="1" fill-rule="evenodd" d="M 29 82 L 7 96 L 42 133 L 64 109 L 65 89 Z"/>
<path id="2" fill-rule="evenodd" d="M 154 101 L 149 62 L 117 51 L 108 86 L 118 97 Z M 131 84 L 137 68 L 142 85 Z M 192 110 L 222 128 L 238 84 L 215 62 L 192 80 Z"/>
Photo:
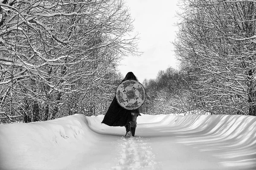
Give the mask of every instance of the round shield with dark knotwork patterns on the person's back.
<path id="1" fill-rule="evenodd" d="M 125 80 L 116 88 L 116 100 L 118 104 L 127 110 L 140 108 L 145 102 L 145 89 L 136 80 Z"/>

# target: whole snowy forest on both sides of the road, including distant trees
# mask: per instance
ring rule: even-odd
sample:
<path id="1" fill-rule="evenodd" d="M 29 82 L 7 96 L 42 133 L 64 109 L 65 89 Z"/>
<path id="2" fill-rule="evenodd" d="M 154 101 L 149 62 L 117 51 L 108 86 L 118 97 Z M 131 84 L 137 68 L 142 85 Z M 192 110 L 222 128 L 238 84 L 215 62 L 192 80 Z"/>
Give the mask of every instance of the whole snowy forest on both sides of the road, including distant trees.
<path id="1" fill-rule="evenodd" d="M 256 1 L 181 0 L 179 69 L 142 81 L 145 114 L 256 116 Z M 0 122 L 105 114 L 140 55 L 123 0 L 1 0 Z M 171 40 L 170 40 L 171 41 Z M 191 112 L 190 112 L 191 113 Z"/>

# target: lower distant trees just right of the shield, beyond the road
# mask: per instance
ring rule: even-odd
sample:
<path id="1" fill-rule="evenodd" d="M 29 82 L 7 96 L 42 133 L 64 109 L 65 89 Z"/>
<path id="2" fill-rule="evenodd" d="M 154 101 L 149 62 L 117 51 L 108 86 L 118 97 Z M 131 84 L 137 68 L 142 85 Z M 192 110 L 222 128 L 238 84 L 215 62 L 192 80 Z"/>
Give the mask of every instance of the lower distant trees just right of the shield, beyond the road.
<path id="1" fill-rule="evenodd" d="M 146 101 L 140 111 L 152 115 L 187 111 L 190 107 L 185 94 L 187 79 L 186 75 L 173 68 L 159 71 L 156 79 L 145 79 Z"/>

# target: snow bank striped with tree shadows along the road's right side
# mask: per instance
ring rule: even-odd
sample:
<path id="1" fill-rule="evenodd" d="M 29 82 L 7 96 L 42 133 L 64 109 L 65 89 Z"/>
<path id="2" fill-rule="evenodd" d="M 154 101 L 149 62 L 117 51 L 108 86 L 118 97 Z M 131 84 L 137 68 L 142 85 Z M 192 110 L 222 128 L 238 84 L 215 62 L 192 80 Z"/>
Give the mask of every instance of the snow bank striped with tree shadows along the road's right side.
<path id="1" fill-rule="evenodd" d="M 244 115 L 155 115 L 158 136 L 177 137 L 176 141 L 214 151 L 226 167 L 256 169 L 256 117 Z"/>

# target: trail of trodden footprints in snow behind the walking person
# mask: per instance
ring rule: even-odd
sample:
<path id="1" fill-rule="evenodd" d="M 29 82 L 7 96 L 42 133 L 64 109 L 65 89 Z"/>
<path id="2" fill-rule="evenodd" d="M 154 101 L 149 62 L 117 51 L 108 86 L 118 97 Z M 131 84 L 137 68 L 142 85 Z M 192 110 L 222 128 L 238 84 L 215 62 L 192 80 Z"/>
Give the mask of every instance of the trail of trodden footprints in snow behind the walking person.
<path id="1" fill-rule="evenodd" d="M 147 143 L 148 139 L 131 137 L 119 139 L 119 164 L 114 170 L 154 170 L 157 162 Z"/>

